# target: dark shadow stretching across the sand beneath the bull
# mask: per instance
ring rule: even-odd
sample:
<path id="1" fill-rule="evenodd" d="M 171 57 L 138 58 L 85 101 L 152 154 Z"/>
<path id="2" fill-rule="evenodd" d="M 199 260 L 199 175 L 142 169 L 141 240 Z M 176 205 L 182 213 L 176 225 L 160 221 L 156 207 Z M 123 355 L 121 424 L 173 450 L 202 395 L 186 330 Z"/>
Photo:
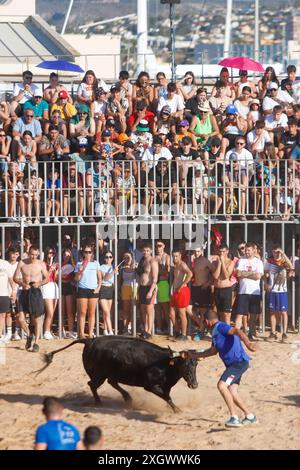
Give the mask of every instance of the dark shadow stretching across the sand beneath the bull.
<path id="1" fill-rule="evenodd" d="M 43 399 L 45 398 L 44 395 L 36 395 L 36 394 L 24 394 L 24 393 L 0 393 L 0 400 L 4 400 L 12 405 L 15 403 L 25 403 L 26 405 L 40 405 L 42 407 Z M 143 422 L 153 422 L 157 424 L 167 424 L 167 425 L 178 425 L 182 426 L 186 424 L 187 426 L 191 426 L 192 424 L 189 423 L 188 419 L 185 421 L 184 413 L 174 414 L 171 409 L 169 409 L 168 405 L 162 402 L 160 411 L 149 412 L 142 405 L 138 406 L 134 404 L 133 407 L 128 408 L 126 407 L 126 403 L 122 400 L 122 398 L 111 398 L 105 394 L 101 395 L 101 399 L 103 401 L 102 406 L 95 406 L 93 404 L 93 397 L 91 397 L 88 393 L 68 393 L 60 397 L 64 407 L 68 410 L 75 411 L 76 413 L 103 413 L 108 415 L 116 415 L 122 414 L 127 419 L 134 419 Z M 150 398 L 151 399 L 151 398 Z M 166 414 L 166 419 L 170 418 L 170 421 L 163 421 L 162 413 Z M 168 416 L 167 416 L 168 415 Z M 176 423 L 176 418 L 180 417 L 180 423 Z"/>

